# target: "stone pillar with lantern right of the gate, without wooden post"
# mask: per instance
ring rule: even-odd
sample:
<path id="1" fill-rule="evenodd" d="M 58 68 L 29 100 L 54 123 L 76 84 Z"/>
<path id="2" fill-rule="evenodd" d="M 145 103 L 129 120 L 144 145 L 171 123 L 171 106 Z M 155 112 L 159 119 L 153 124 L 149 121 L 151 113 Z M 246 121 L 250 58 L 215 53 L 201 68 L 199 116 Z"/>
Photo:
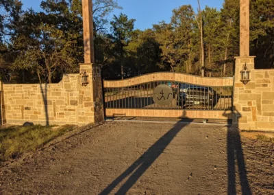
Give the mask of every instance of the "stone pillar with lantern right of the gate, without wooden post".
<path id="1" fill-rule="evenodd" d="M 233 126 L 239 129 L 255 130 L 257 128 L 257 102 L 255 85 L 255 56 L 236 57 L 234 83 L 234 117 Z M 247 64 L 251 71 L 250 81 L 243 84 L 240 71 Z"/>

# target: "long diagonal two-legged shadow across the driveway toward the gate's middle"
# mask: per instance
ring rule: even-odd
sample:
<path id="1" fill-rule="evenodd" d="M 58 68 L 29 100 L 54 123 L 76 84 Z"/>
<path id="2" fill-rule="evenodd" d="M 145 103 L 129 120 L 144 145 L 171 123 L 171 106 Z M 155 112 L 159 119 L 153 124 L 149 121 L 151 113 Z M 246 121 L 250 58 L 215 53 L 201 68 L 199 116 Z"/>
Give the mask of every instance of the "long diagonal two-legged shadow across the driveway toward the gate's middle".
<path id="1" fill-rule="evenodd" d="M 184 111 L 182 117 L 186 116 Z M 192 120 L 191 120 L 192 121 Z M 190 121 L 190 122 L 191 122 Z M 137 159 L 132 165 L 125 170 L 120 176 L 118 176 L 108 187 L 100 193 L 100 195 L 110 194 L 114 188 L 119 185 L 127 176 L 129 178 L 125 183 L 119 188 L 115 194 L 126 194 L 130 188 L 138 181 L 140 176 L 144 174 L 147 169 L 152 165 L 152 163 L 160 157 L 164 149 L 169 146 L 174 137 L 188 124 L 177 123 L 171 130 L 169 130 L 165 135 L 163 135 L 158 141 L 155 142 L 139 159 Z"/>

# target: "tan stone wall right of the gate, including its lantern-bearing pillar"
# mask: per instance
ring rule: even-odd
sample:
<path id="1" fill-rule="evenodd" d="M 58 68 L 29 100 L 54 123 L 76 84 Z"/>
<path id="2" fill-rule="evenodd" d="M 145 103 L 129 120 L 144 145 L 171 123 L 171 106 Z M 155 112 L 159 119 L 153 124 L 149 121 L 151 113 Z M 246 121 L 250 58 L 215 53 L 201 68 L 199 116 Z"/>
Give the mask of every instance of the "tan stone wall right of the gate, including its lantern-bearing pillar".
<path id="1" fill-rule="evenodd" d="M 254 69 L 254 58 L 236 58 L 233 124 L 244 130 L 274 130 L 274 70 Z M 245 64 L 251 80 L 242 84 L 240 71 Z"/>

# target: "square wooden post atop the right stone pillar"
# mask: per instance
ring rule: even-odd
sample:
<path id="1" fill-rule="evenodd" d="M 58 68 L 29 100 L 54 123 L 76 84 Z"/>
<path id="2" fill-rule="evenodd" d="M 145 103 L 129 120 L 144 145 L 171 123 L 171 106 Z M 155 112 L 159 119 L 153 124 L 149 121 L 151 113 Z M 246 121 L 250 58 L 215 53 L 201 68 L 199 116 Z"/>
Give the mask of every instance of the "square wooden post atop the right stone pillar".
<path id="1" fill-rule="evenodd" d="M 249 56 L 249 0 L 240 0 L 240 57 Z"/>

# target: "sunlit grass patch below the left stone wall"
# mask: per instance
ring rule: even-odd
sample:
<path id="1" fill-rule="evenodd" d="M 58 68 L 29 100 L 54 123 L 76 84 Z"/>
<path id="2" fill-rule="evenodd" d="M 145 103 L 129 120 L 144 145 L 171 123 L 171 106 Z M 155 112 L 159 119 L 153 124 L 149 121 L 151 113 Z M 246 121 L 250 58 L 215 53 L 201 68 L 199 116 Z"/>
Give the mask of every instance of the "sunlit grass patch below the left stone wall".
<path id="1" fill-rule="evenodd" d="M 0 163 L 34 151 L 75 126 L 10 126 L 0 129 Z"/>

